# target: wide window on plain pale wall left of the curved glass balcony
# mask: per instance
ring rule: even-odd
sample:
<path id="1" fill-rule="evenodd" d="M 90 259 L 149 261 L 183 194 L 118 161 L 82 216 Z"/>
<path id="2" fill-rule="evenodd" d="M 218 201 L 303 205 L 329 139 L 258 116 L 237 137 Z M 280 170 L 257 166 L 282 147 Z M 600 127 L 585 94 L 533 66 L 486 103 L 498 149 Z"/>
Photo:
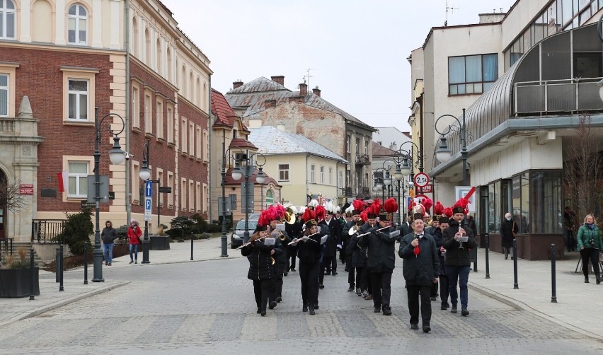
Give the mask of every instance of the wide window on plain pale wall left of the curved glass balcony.
<path id="1" fill-rule="evenodd" d="M 448 58 L 449 95 L 483 93 L 498 79 L 498 54 Z"/>

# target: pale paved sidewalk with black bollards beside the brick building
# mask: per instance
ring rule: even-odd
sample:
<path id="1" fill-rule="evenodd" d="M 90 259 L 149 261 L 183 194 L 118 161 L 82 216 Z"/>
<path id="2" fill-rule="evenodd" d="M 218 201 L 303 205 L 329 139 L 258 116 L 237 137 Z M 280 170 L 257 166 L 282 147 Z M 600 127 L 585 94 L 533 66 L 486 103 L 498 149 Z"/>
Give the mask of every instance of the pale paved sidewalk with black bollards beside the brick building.
<path id="1" fill-rule="evenodd" d="M 113 259 L 111 268 L 115 267 L 147 267 L 156 264 L 172 264 L 176 262 L 200 262 L 205 260 L 224 259 L 220 257 L 220 238 L 195 240 L 193 243 L 193 261 L 190 260 L 190 240 L 185 243 L 170 243 L 170 250 L 151 250 L 149 252 L 150 264 L 141 264 L 142 252 L 138 253 L 138 264 L 130 264 L 128 255 Z M 241 257 L 239 250 L 230 249 L 228 246 L 227 259 Z M 107 269 L 103 264 L 103 269 Z M 88 284 L 84 285 L 84 267 L 69 269 L 63 274 L 63 289 L 59 291 L 54 272 L 40 270 L 40 295 L 34 300 L 23 298 L 0 298 L 0 327 L 11 322 L 35 317 L 54 308 L 59 308 L 71 302 L 79 301 L 98 293 L 103 293 L 120 286 L 129 284 L 129 281 L 106 280 L 92 282 L 93 268 L 88 265 Z"/>

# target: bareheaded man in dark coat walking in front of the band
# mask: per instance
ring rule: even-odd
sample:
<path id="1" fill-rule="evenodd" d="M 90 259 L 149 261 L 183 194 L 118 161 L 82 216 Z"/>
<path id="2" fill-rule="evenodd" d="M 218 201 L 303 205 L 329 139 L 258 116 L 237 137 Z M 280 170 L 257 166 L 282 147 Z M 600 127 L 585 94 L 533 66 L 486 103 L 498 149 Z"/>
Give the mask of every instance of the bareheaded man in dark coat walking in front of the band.
<path id="1" fill-rule="evenodd" d="M 437 284 L 440 274 L 440 261 L 437 256 L 435 239 L 424 231 L 423 215 L 414 214 L 414 233 L 404 235 L 400 241 L 398 256 L 404 261 L 402 270 L 406 280 L 408 294 L 408 312 L 410 313 L 410 328 L 419 329 L 419 295 L 423 332 L 430 332 L 431 300 L 430 293 L 433 284 Z M 436 217 L 436 216 L 434 216 Z M 437 216 L 439 219 L 439 215 Z"/>

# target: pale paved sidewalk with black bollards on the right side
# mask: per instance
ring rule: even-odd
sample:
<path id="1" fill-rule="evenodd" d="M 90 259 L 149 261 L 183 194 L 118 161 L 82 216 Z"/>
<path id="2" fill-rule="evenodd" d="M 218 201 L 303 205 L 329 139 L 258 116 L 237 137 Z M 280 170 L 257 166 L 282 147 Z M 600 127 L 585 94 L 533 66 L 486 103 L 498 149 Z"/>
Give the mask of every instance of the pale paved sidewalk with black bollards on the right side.
<path id="1" fill-rule="evenodd" d="M 557 303 L 551 303 L 551 261 L 517 260 L 517 284 L 513 289 L 513 261 L 498 252 L 490 252 L 490 279 L 486 279 L 486 251 L 478 250 L 478 272 L 469 275 L 469 308 L 471 291 L 485 293 L 520 310 L 527 310 L 558 325 L 569 327 L 590 337 L 603 339 L 603 283 L 584 283 L 582 267 L 575 274 L 580 254 L 565 254 L 556 262 Z"/>

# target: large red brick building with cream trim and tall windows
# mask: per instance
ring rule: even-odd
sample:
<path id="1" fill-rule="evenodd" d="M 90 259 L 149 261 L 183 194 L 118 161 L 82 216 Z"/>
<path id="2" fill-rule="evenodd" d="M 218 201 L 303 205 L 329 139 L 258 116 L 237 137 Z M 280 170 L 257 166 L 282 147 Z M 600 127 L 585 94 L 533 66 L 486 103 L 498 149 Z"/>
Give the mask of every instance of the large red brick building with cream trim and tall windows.
<path id="1" fill-rule="evenodd" d="M 127 4 L 128 6 L 125 6 Z M 29 240 L 33 221 L 64 219 L 88 197 L 93 175 L 95 107 L 101 175 L 115 199 L 101 221 L 142 220 L 138 174 L 149 141 L 154 191 L 151 233 L 209 202 L 209 59 L 178 28 L 161 1 L 5 0 L 0 14 L 0 178 L 33 185 L 16 212 L 1 209 L 0 233 Z M 110 122 L 109 122 L 110 121 Z M 115 132 L 126 163 L 108 158 Z M 67 172 L 65 192 L 57 173 Z"/>

